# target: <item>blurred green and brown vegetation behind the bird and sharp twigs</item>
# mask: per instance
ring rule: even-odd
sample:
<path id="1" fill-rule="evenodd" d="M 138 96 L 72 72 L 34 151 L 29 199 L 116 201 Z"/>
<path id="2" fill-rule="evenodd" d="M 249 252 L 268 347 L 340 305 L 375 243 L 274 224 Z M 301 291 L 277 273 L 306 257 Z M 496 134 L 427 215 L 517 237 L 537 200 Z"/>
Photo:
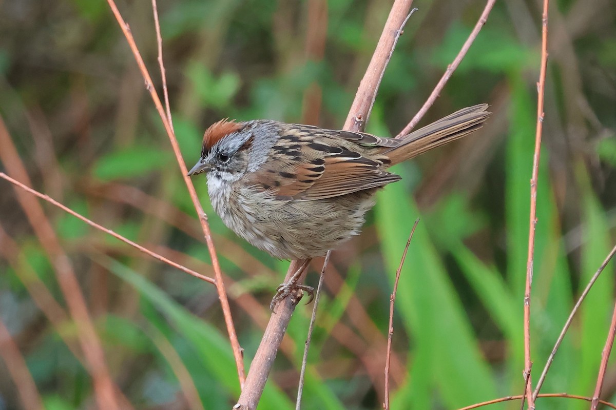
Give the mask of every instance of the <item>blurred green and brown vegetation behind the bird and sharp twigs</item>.
<path id="1" fill-rule="evenodd" d="M 160 89 L 151 3 L 118 6 Z M 395 135 L 407 124 L 484 2 L 413 6 L 419 11 L 387 68 L 369 132 Z M 341 127 L 390 7 L 381 0 L 160 1 L 172 115 L 187 165 L 198 159 L 203 130 L 222 117 Z M 396 305 L 392 407 L 455 409 L 522 392 L 540 9 L 538 1 L 496 3 L 421 123 L 485 102 L 493 111 L 488 124 L 399 166 L 403 180 L 380 192 L 363 234 L 333 254 L 305 409 L 381 407 L 389 294 L 416 218 Z M 549 24 L 532 294 L 535 382 L 580 288 L 616 240 L 616 3 L 553 1 Z M 213 276 L 168 138 L 106 2 L 0 2 L 0 114 L 36 189 Z M 195 179 L 249 365 L 287 262 L 226 229 L 205 182 Z M 132 406 L 230 408 L 239 387 L 214 286 L 43 206 L 75 269 L 105 363 Z M 66 317 L 51 318 L 75 295 L 60 290 L 6 181 L 0 228 L 0 318 L 45 408 L 95 408 L 76 331 Z M 612 262 L 583 304 L 542 392 L 592 395 L 614 270 Z M 292 408 L 311 309 L 296 310 L 260 408 Z M 23 408 L 23 385 L 7 368 L 14 353 L 4 350 L 0 360 L 2 410 Z M 616 368 L 604 382 L 604 398 L 614 401 Z M 538 404 L 588 407 L 562 398 Z"/>

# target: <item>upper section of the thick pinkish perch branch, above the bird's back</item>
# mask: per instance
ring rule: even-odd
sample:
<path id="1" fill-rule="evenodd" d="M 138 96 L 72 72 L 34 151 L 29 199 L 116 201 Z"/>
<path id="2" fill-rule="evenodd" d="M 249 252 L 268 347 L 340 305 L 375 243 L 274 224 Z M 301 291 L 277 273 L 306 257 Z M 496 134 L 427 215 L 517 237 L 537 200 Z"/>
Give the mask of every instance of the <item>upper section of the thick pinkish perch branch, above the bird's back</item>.
<path id="1" fill-rule="evenodd" d="M 344 122 L 344 130 L 363 131 L 363 128 L 365 128 L 387 63 L 389 63 L 389 59 L 394 52 L 395 44 L 402 34 L 405 23 L 413 14 L 412 11 L 409 12 L 411 4 L 413 4 L 413 0 L 394 1 L 387 22 L 383 27 L 381 38 L 376 45 L 375 53 L 372 55 L 366 73 L 359 83 L 357 93 L 355 93 L 355 100 L 351 104 L 349 115 Z"/>

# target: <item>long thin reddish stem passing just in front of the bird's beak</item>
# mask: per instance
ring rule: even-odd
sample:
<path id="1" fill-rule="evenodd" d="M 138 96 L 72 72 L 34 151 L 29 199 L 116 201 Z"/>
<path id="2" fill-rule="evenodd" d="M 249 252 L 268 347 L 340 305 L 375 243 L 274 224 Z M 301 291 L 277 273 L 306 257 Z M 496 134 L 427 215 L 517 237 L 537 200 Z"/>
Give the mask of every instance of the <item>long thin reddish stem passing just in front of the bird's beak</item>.
<path id="1" fill-rule="evenodd" d="M 199 202 L 199 199 L 197 197 L 197 191 L 195 191 L 195 187 L 193 186 L 190 177 L 187 176 L 188 169 L 186 168 L 186 164 L 184 163 L 184 159 L 182 158 L 182 153 L 180 152 L 180 147 L 177 143 L 176 136 L 174 135 L 171 123 L 167 119 L 167 116 L 164 112 L 160 98 L 158 98 L 158 93 L 156 93 L 156 89 L 152 82 L 152 77 L 150 77 L 150 73 L 148 73 L 148 70 L 145 67 L 145 63 L 143 58 L 141 57 L 141 54 L 139 53 L 139 49 L 137 49 L 137 44 L 135 44 L 135 40 L 132 37 L 131 29 L 129 28 L 128 24 L 124 22 L 124 19 L 122 18 L 120 10 L 118 10 L 115 1 L 107 0 L 107 2 L 109 4 L 109 7 L 111 8 L 111 12 L 113 12 L 113 15 L 115 16 L 122 32 L 124 33 L 124 37 L 126 37 L 126 41 L 128 42 L 129 47 L 131 47 L 131 51 L 135 57 L 135 60 L 137 61 L 137 66 L 139 66 L 139 70 L 144 77 L 145 88 L 150 93 L 150 97 L 152 97 L 152 101 L 154 102 L 156 110 L 158 111 L 158 114 L 163 122 L 164 129 L 167 132 L 169 141 L 171 142 L 171 147 L 173 148 L 173 152 L 176 156 L 177 164 L 180 167 L 182 178 L 184 178 L 184 183 L 188 188 L 188 194 L 190 194 L 190 199 L 193 202 L 195 210 L 197 210 L 197 215 L 199 216 L 199 221 L 201 223 L 201 229 L 203 230 L 203 236 L 205 237 L 205 241 L 208 245 L 209 256 L 212 259 L 212 266 L 214 267 L 214 276 L 216 279 L 216 282 L 214 283 L 216 285 L 218 297 L 221 301 L 222 314 L 224 316 L 225 325 L 227 326 L 227 333 L 229 334 L 229 341 L 233 350 L 233 357 L 235 358 L 235 366 L 237 367 L 240 387 L 242 387 L 245 382 L 244 361 L 242 353 L 243 349 L 241 349 L 240 342 L 237 339 L 237 333 L 235 332 L 235 325 L 233 324 L 233 318 L 231 316 L 231 307 L 229 306 L 229 299 L 227 298 L 227 292 L 225 291 L 221 267 L 219 265 L 218 257 L 216 255 L 216 248 L 214 248 L 212 234 L 209 229 L 208 216 L 205 214 L 203 208 L 201 207 L 201 203 Z"/>

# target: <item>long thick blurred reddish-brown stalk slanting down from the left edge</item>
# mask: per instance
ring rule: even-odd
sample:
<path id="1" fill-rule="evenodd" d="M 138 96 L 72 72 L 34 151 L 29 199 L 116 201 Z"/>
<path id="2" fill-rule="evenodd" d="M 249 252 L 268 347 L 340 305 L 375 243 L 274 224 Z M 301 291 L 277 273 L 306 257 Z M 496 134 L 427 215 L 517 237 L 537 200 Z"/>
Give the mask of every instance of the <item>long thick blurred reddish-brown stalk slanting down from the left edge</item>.
<path id="1" fill-rule="evenodd" d="M 0 160 L 6 169 L 17 178 L 26 181 L 30 184 L 30 178 L 23 166 L 22 161 L 15 149 L 9 132 L 4 125 L 4 120 L 0 117 Z M 10 177 L 4 173 L 0 176 L 5 179 Z M 12 179 L 12 178 L 10 178 Z M 75 321 L 75 328 L 79 344 L 86 358 L 89 373 L 92 376 L 94 384 L 94 395 L 99 408 L 118 409 L 118 401 L 116 400 L 115 384 L 111 380 L 111 375 L 107 369 L 103 347 L 94 328 L 94 324 L 87 311 L 86 301 L 79 282 L 75 275 L 75 270 L 71 265 L 71 261 L 67 254 L 62 249 L 58 237 L 55 235 L 54 228 L 51 226 L 49 219 L 43 211 L 41 203 L 35 200 L 30 195 L 27 195 L 21 189 L 15 188 L 17 200 L 22 207 L 28 221 L 34 230 L 34 234 L 43 246 L 49 262 L 60 285 L 60 290 L 67 302 L 68 311 L 71 318 Z"/>

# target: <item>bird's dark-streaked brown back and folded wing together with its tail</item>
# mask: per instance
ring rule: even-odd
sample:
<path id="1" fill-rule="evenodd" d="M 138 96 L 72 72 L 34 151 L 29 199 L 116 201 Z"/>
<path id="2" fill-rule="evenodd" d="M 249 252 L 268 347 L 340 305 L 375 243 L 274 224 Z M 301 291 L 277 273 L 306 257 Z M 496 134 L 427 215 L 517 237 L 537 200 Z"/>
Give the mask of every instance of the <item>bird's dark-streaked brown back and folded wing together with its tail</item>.
<path id="1" fill-rule="evenodd" d="M 286 125 L 289 128 L 281 129 L 280 141 L 272 148 L 272 160 L 245 178 L 257 189 L 287 200 L 326 199 L 384 186 L 400 179 L 385 168 L 477 130 L 490 114 L 487 107 L 461 109 L 400 140 Z"/>

